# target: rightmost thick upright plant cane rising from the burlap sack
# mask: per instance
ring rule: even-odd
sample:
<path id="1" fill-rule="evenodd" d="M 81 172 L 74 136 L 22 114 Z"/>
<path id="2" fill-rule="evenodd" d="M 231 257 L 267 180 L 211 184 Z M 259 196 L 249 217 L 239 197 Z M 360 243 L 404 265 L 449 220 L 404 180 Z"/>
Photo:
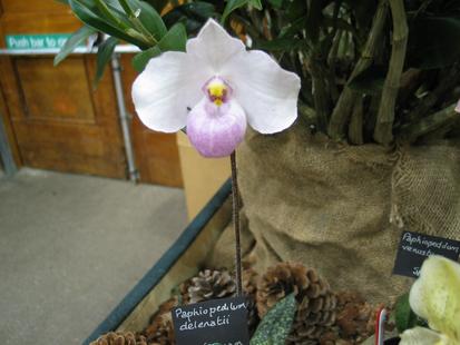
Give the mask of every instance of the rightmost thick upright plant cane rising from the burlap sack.
<path id="1" fill-rule="evenodd" d="M 393 47 L 374 130 L 375 141 L 383 145 L 389 145 L 393 141 L 394 108 L 401 83 L 409 38 L 404 1 L 390 0 L 390 9 L 393 17 Z"/>

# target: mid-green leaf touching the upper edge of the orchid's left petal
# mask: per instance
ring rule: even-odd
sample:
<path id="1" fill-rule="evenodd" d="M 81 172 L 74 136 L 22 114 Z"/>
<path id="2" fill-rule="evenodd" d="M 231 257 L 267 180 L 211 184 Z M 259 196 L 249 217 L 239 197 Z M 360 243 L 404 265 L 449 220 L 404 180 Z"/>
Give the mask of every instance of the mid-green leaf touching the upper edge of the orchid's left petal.
<path id="1" fill-rule="evenodd" d="M 133 58 L 133 66 L 141 72 L 151 58 L 159 56 L 165 51 L 185 51 L 187 42 L 187 32 L 182 23 L 175 24 L 158 42 L 157 46 L 139 52 Z"/>

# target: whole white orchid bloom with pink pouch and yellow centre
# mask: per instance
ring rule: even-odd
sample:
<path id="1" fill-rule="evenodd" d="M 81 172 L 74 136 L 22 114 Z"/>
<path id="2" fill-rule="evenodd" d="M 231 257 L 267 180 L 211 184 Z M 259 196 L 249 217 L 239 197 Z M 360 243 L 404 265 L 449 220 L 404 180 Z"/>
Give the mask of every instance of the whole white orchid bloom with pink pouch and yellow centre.
<path id="1" fill-rule="evenodd" d="M 186 52 L 151 59 L 133 85 L 140 120 L 150 129 L 187 136 L 205 157 L 231 155 L 246 122 L 261 134 L 290 127 L 297 117 L 300 78 L 267 53 L 247 51 L 209 19 Z"/>

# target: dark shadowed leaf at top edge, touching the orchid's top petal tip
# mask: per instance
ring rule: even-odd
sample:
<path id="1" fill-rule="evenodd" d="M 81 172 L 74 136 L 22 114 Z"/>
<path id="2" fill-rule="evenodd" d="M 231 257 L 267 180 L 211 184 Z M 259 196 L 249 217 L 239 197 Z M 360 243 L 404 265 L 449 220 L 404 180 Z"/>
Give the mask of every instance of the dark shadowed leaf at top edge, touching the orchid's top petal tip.
<path id="1" fill-rule="evenodd" d="M 196 32 L 208 18 L 215 17 L 215 7 L 204 1 L 194 1 L 178 6 L 163 17 L 166 26 L 173 27 L 177 22 L 183 22 L 187 32 Z"/>

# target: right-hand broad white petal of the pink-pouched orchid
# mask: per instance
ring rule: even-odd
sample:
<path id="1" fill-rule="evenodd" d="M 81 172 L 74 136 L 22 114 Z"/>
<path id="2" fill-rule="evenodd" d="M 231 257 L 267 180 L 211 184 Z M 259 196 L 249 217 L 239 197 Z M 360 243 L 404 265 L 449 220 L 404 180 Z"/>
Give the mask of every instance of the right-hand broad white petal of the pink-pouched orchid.
<path id="1" fill-rule="evenodd" d="M 251 127 L 261 134 L 274 134 L 297 118 L 301 80 L 282 69 L 260 50 L 235 56 L 222 71 L 234 88 L 234 97 L 246 111 Z"/>

